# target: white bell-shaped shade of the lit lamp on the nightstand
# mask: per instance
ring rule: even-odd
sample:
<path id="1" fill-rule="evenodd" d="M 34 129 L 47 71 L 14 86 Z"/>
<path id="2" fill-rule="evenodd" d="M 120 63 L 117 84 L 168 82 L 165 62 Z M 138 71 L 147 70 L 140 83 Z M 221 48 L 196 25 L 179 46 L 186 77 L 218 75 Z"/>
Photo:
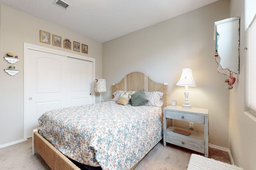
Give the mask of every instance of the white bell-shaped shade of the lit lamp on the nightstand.
<path id="1" fill-rule="evenodd" d="M 177 86 L 196 86 L 192 76 L 192 70 L 188 67 L 182 69 L 180 80 L 176 84 Z"/>

